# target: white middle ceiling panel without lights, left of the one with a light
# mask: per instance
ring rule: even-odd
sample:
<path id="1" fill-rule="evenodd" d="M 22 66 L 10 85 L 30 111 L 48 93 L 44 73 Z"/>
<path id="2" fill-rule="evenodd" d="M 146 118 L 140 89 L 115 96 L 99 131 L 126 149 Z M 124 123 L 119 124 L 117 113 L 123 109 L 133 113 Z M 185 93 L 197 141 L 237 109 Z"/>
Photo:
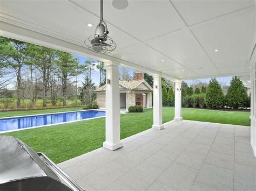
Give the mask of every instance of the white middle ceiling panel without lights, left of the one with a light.
<path id="1" fill-rule="evenodd" d="M 181 30 L 146 43 L 185 67 L 212 65 L 189 30 Z"/>

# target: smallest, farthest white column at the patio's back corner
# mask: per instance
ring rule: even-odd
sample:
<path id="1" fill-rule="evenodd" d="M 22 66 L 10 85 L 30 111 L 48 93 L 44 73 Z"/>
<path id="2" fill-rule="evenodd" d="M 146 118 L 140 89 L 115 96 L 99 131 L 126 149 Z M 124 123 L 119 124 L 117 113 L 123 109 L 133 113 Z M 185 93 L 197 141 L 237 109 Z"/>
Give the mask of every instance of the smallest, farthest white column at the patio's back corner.
<path id="1" fill-rule="evenodd" d="M 175 117 L 174 120 L 181 121 L 181 80 L 175 82 Z"/>

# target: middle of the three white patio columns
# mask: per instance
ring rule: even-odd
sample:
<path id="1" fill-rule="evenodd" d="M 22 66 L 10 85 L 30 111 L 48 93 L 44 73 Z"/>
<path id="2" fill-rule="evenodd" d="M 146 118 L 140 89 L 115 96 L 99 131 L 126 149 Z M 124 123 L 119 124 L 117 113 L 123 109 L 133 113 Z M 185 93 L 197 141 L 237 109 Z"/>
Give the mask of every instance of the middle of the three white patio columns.
<path id="1" fill-rule="evenodd" d="M 162 119 L 162 89 L 161 77 L 158 74 L 153 75 L 153 129 L 164 129 Z"/>

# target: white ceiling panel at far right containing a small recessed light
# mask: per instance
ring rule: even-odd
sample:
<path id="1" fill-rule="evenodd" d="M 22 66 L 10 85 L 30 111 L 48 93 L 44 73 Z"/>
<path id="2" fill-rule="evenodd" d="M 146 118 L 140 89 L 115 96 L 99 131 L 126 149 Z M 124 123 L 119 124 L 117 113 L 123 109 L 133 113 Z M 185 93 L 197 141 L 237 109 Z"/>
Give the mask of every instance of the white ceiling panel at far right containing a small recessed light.
<path id="1" fill-rule="evenodd" d="M 245 9 L 195 26 L 192 32 L 214 63 L 244 62 L 252 16 L 253 9 Z"/>

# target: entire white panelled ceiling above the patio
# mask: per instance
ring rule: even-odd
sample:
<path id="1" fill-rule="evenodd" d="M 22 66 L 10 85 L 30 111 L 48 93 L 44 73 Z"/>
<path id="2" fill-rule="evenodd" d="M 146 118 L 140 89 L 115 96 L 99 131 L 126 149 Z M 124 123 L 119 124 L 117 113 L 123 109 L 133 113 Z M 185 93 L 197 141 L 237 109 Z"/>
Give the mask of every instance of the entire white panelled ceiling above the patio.
<path id="1" fill-rule="evenodd" d="M 250 71 L 253 0 L 128 1 L 117 10 L 104 0 L 112 56 L 181 79 Z M 99 22 L 99 0 L 0 2 L 1 21 L 80 46 Z"/>

